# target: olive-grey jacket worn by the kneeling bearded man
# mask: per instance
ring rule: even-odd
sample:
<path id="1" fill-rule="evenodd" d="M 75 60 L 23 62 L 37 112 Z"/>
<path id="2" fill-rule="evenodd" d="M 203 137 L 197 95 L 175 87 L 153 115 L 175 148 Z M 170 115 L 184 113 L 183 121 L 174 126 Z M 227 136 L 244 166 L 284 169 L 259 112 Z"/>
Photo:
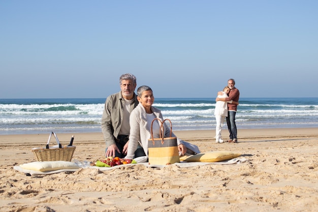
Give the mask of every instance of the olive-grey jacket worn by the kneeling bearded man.
<path id="1" fill-rule="evenodd" d="M 131 103 L 130 112 L 133 111 L 138 103 L 137 95 L 134 93 L 134 99 Z M 121 91 L 119 93 L 110 95 L 106 99 L 102 115 L 102 132 L 106 142 L 106 147 L 115 144 L 114 138 L 117 138 L 122 124 L 124 104 L 125 103 L 122 98 Z"/>

